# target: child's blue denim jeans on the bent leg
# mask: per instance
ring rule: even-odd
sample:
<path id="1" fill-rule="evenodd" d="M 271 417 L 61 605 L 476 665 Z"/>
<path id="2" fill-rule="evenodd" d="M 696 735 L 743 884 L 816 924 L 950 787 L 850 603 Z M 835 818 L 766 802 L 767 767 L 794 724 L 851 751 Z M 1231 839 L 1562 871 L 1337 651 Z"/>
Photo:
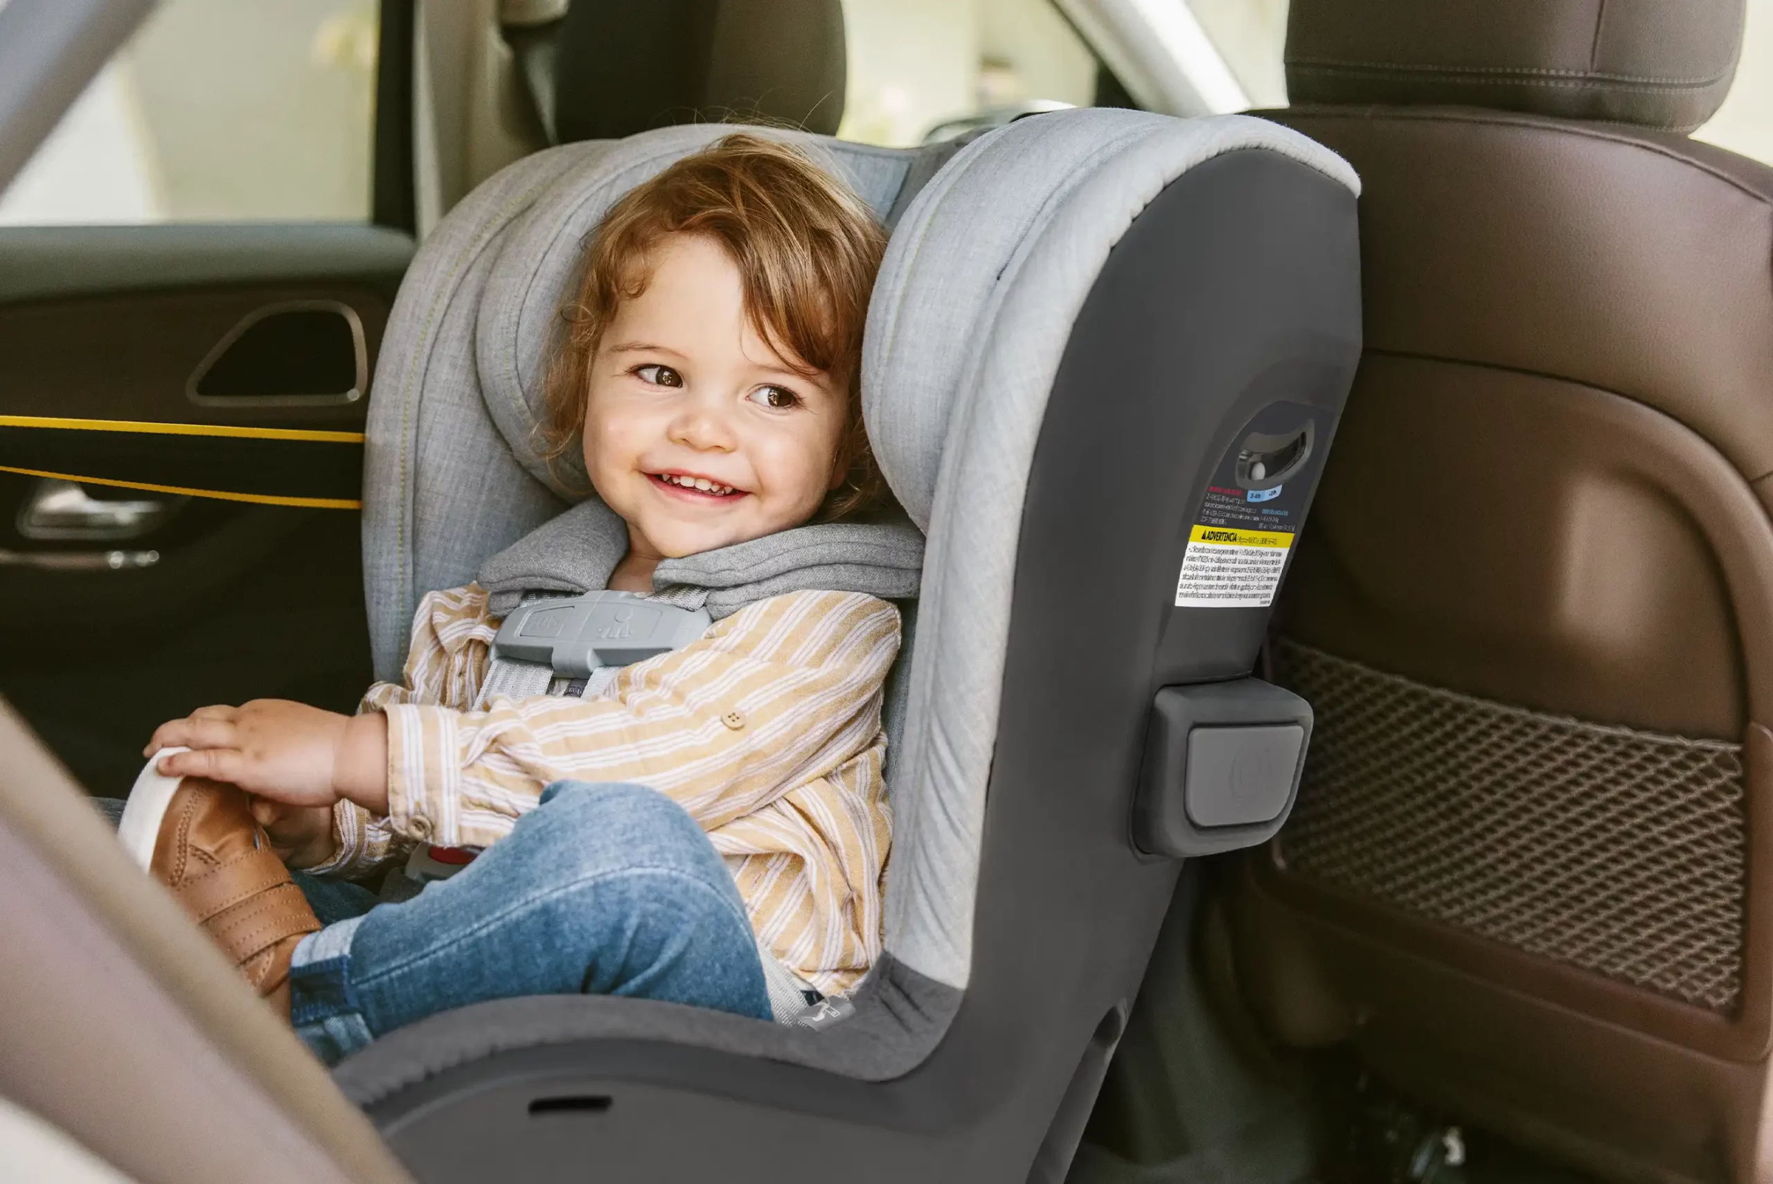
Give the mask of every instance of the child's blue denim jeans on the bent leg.
<path id="1" fill-rule="evenodd" d="M 550 785 L 509 837 L 411 900 L 303 938 L 289 993 L 296 1033 L 328 1063 L 426 1016 L 523 994 L 769 1019 L 745 904 L 702 828 L 644 785 L 583 782 Z"/>

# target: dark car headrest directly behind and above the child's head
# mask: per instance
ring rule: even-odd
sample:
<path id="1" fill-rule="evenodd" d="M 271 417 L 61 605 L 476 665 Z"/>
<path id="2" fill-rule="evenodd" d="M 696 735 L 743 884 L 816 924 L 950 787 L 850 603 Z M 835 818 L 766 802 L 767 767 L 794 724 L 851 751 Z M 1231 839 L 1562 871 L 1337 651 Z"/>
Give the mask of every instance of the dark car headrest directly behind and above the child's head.
<path id="1" fill-rule="evenodd" d="M 844 115 L 839 0 L 574 0 L 553 46 L 558 144 L 764 117 L 830 135 Z"/>

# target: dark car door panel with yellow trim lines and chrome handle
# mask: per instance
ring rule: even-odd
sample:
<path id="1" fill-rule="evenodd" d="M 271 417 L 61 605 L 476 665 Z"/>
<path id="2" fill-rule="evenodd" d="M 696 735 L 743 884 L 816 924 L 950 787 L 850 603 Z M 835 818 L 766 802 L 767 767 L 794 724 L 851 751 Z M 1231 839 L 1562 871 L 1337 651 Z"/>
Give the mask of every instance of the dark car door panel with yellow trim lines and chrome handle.
<path id="1" fill-rule="evenodd" d="M 362 427 L 411 250 L 371 225 L 0 230 L 0 689 L 94 792 L 193 707 L 349 709 L 369 682 Z M 326 317 L 332 378 L 305 347 Z"/>

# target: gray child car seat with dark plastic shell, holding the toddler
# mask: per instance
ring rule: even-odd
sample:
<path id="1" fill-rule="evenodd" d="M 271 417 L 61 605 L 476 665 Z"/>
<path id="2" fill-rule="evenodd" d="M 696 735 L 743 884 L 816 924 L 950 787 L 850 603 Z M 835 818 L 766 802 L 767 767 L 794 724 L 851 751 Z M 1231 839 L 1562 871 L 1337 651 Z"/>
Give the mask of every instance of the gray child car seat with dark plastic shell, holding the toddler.
<path id="1" fill-rule="evenodd" d="M 424 590 L 567 505 L 532 441 L 580 243 L 727 131 L 550 149 L 420 248 L 369 420 L 381 677 Z M 1291 796 L 1308 711 L 1245 675 L 1358 358 L 1355 175 L 1246 117 L 1074 110 L 904 151 L 768 135 L 892 225 L 863 399 L 927 560 L 888 713 L 886 954 L 823 1030 L 562 996 L 390 1033 L 335 1079 L 422 1180 L 1058 1180 L 1170 856 L 1257 842 Z M 1245 730 L 1183 753 L 1190 721 Z M 1213 776 L 1184 757 L 1245 780 L 1184 812 Z"/>

